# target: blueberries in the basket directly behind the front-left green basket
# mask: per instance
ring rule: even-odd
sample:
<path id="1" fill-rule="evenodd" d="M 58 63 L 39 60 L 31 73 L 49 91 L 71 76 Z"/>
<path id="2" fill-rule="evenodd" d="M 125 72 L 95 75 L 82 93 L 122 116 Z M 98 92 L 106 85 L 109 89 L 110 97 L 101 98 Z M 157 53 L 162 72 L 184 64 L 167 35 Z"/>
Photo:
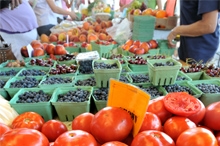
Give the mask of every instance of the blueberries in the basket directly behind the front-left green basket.
<path id="1" fill-rule="evenodd" d="M 37 87 L 39 80 L 33 77 L 24 77 L 23 79 L 16 80 L 10 83 L 10 88 L 33 88 Z"/>

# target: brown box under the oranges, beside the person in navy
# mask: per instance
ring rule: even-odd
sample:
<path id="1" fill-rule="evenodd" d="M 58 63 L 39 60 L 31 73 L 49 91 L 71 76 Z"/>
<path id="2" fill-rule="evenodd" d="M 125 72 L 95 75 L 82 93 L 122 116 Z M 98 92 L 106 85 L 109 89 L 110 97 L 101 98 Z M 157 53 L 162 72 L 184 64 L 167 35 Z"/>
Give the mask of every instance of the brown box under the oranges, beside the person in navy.
<path id="1" fill-rule="evenodd" d="M 171 30 L 177 25 L 178 16 L 167 18 L 156 18 L 155 29 L 157 30 Z"/>

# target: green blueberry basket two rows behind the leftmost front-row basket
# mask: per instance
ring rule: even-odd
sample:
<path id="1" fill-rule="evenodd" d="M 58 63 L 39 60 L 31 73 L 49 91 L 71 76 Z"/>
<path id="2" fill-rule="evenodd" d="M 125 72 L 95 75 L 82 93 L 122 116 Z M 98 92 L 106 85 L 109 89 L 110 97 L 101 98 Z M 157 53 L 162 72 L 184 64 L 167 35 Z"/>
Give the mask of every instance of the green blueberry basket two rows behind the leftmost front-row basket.
<path id="1" fill-rule="evenodd" d="M 43 77 L 43 76 L 45 76 L 45 75 L 47 75 L 48 74 L 48 72 L 49 72 L 49 69 L 50 68 L 47 68 L 47 67 L 38 67 L 38 66 L 36 66 L 36 67 L 30 67 L 30 68 L 23 68 L 23 69 L 21 69 L 17 74 L 16 74 L 16 77 L 22 77 L 21 76 L 21 74 L 23 73 L 23 72 L 26 72 L 26 71 L 28 71 L 28 70 L 38 70 L 38 71 L 41 71 L 42 73 L 44 73 L 44 75 L 25 75 L 25 76 L 35 76 L 35 77 Z M 23 77 L 24 77 L 24 75 L 23 75 Z"/>

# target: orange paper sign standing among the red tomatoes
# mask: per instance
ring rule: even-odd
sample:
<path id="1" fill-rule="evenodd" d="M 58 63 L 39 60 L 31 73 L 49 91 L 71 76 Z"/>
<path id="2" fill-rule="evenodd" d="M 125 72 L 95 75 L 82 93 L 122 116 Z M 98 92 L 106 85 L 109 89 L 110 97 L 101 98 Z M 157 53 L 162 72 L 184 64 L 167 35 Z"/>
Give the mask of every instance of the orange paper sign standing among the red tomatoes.
<path id="1" fill-rule="evenodd" d="M 120 107 L 129 112 L 134 122 L 133 136 L 141 128 L 149 100 L 150 95 L 138 87 L 110 79 L 107 106 Z"/>

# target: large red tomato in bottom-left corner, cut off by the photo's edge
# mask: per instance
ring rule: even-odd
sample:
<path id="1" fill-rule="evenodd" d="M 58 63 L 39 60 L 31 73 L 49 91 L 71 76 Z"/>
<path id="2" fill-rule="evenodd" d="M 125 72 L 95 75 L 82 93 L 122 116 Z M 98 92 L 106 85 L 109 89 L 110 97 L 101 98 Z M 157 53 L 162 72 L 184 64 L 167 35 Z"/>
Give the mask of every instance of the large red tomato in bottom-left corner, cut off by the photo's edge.
<path id="1" fill-rule="evenodd" d="M 0 137 L 0 146 L 49 146 L 49 141 L 38 130 L 17 128 Z"/>

